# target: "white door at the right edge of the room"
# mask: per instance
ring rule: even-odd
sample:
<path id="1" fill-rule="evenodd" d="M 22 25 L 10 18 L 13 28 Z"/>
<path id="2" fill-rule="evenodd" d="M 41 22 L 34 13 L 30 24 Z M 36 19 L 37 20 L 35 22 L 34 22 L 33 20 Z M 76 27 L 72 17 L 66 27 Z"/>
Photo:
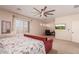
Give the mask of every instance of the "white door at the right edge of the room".
<path id="1" fill-rule="evenodd" d="M 79 43 L 79 21 L 72 21 L 72 41 Z"/>

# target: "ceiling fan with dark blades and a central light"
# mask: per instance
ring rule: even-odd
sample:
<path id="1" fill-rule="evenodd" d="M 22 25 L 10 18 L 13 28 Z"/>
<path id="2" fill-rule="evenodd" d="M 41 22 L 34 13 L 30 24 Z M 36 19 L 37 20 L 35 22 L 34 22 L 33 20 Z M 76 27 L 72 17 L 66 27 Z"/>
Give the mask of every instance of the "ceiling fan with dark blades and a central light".
<path id="1" fill-rule="evenodd" d="M 40 15 L 40 17 L 41 17 L 41 16 L 47 17 L 48 15 L 54 15 L 52 12 L 55 11 L 54 9 L 53 9 L 53 10 L 48 10 L 48 11 L 46 11 L 47 6 L 44 6 L 44 8 L 41 9 L 41 10 L 38 10 L 38 9 L 36 9 L 36 8 L 33 8 L 33 9 L 36 10 L 36 11 L 38 12 L 37 15 Z"/>

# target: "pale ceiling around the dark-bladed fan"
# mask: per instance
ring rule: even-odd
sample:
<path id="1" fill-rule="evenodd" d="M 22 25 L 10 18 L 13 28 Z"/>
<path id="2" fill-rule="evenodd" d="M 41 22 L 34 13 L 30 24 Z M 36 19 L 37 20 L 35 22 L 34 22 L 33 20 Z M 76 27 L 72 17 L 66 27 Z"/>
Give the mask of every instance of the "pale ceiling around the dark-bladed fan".
<path id="1" fill-rule="evenodd" d="M 35 16 L 34 13 L 37 11 L 35 11 L 33 8 L 40 10 L 44 8 L 44 6 L 48 7 L 46 10 L 55 9 L 56 11 L 53 12 L 54 15 L 50 15 L 48 17 L 39 17 L 39 15 Z M 20 8 L 21 10 L 17 10 L 17 8 Z M 41 20 L 53 20 L 55 17 L 79 13 L 79 7 L 74 8 L 74 5 L 0 5 L 0 9 L 5 9 L 11 12 L 22 14 L 24 16 L 29 16 Z"/>

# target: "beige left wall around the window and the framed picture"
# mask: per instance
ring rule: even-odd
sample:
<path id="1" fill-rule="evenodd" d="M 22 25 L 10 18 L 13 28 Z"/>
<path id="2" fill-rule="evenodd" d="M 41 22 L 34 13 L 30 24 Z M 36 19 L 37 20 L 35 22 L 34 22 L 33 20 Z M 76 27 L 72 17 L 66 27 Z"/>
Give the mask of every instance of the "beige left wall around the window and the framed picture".
<path id="1" fill-rule="evenodd" d="M 18 18 L 24 18 L 24 19 L 30 21 L 30 33 L 31 34 L 42 34 L 43 30 L 42 30 L 42 27 L 40 26 L 40 23 L 42 23 L 42 21 L 38 21 L 38 20 L 31 21 L 31 18 L 24 17 L 21 15 L 15 14 L 15 13 L 5 11 L 5 10 L 0 10 L 0 21 L 6 20 L 6 21 L 12 22 L 12 15 L 16 15 Z M 14 32 L 15 31 L 13 30 L 10 34 L 13 34 Z M 9 35 L 9 34 L 7 34 L 7 35 Z M 1 24 L 0 24 L 0 36 L 3 36 L 1 34 Z M 5 36 L 5 34 L 4 34 L 4 36 Z"/>

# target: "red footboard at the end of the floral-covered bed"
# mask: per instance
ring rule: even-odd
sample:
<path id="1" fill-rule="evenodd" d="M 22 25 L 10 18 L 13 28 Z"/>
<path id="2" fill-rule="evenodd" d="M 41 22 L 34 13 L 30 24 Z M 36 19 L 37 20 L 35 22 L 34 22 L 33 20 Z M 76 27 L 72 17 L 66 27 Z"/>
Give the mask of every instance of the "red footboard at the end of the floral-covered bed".
<path id="1" fill-rule="evenodd" d="M 24 34 L 24 36 L 43 41 L 45 45 L 46 53 L 48 53 L 52 49 L 53 39 L 47 38 L 45 36 L 36 36 L 36 35 L 30 35 L 30 34 Z"/>

